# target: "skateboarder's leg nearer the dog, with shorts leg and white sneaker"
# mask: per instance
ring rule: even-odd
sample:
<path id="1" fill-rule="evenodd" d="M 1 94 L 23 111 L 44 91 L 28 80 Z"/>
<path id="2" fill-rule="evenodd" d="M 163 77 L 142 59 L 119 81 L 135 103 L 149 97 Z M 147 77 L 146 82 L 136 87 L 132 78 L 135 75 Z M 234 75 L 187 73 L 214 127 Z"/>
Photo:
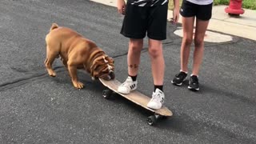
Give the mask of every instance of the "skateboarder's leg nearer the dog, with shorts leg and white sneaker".
<path id="1" fill-rule="evenodd" d="M 143 46 L 143 38 L 146 36 L 147 10 L 149 7 L 126 5 L 126 14 L 122 23 L 121 34 L 130 38 L 127 55 L 128 78 L 118 86 L 118 92 L 129 94 L 137 88 L 138 65 Z"/>

